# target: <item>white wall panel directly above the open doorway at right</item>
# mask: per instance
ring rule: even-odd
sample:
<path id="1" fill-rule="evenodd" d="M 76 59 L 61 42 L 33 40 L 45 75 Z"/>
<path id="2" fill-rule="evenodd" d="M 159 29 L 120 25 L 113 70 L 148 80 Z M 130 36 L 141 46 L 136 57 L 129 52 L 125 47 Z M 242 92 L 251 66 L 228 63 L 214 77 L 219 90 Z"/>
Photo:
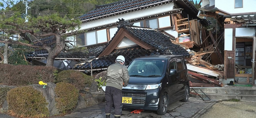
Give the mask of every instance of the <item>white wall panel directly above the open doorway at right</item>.
<path id="1" fill-rule="evenodd" d="M 255 36 L 255 27 L 236 28 L 236 37 L 239 36 Z"/>

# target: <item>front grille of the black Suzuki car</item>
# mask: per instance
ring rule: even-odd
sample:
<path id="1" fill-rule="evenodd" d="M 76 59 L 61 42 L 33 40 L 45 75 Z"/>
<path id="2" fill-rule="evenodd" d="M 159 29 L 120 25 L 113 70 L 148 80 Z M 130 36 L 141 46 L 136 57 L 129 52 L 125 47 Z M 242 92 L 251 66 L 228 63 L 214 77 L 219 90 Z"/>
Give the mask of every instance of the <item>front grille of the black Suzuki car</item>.
<path id="1" fill-rule="evenodd" d="M 123 97 L 132 97 L 132 105 L 145 105 L 147 94 L 142 93 L 122 93 Z"/>

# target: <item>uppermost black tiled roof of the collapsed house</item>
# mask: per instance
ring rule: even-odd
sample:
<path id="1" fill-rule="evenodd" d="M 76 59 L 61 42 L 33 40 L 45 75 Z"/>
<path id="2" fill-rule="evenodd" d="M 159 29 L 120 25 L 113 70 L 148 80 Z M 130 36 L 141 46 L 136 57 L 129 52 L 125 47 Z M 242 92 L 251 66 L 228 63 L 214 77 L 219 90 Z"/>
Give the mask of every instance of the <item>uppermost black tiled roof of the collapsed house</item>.
<path id="1" fill-rule="evenodd" d="M 151 6 L 154 7 L 161 4 L 167 4 L 169 2 L 173 2 L 173 0 L 121 0 L 110 4 L 96 6 L 94 10 L 87 12 L 79 18 L 80 20 L 89 20 L 90 18 L 93 18 L 91 20 L 95 20 L 97 19 L 96 17 L 102 17 L 104 15 L 112 16 L 117 15 L 117 12 L 127 12 L 128 10 L 136 11 Z M 188 14 L 192 15 L 193 18 L 202 20 L 196 16 L 198 10 L 188 0 L 175 0 L 175 2 L 177 2 L 177 4 Z M 204 25 L 208 25 L 208 22 L 205 19 L 202 21 Z"/>

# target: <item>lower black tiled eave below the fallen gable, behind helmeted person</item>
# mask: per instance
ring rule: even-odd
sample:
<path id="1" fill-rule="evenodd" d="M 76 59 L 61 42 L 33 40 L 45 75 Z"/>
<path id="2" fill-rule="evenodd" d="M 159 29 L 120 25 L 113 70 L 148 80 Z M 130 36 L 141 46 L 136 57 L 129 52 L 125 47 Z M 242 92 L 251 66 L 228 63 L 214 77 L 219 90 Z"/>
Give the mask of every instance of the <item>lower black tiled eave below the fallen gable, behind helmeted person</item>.
<path id="1" fill-rule="evenodd" d="M 142 57 L 142 56 L 149 56 L 149 55 L 160 55 L 160 54 L 161 53 L 157 52 L 156 50 L 150 51 L 150 50 L 141 48 L 140 46 L 116 49 L 110 55 L 102 56 L 99 59 L 93 59 L 92 68 L 93 69 L 107 68 L 109 65 L 115 63 L 116 57 L 118 55 L 123 55 L 125 58 L 125 65 L 128 65 L 135 58 Z M 90 70 L 91 64 L 89 62 L 86 62 L 83 65 L 77 65 L 73 67 L 73 69 Z"/>

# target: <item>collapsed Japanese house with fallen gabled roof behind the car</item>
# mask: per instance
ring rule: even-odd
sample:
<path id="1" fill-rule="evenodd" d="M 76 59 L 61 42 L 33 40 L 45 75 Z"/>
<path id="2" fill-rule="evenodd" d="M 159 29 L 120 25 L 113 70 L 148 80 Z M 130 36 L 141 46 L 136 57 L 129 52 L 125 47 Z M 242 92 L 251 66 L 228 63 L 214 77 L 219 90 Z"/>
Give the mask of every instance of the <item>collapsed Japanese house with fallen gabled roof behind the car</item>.
<path id="1" fill-rule="evenodd" d="M 126 65 L 141 56 L 183 55 L 187 58 L 188 70 L 200 74 L 193 77 L 197 80 L 191 83 L 221 85 L 223 34 L 216 32 L 216 27 L 210 28 L 211 23 L 197 14 L 198 10 L 188 0 L 123 0 L 96 6 L 80 17 L 82 33 L 66 39 L 86 49 L 61 52 L 54 66 L 95 75 L 115 63 L 118 55 L 124 55 Z M 42 41 L 52 39 L 54 37 Z M 47 54 L 46 50 L 35 50 L 28 58 L 44 65 L 36 60 L 45 63 Z M 201 76 L 206 80 L 199 80 Z"/>

